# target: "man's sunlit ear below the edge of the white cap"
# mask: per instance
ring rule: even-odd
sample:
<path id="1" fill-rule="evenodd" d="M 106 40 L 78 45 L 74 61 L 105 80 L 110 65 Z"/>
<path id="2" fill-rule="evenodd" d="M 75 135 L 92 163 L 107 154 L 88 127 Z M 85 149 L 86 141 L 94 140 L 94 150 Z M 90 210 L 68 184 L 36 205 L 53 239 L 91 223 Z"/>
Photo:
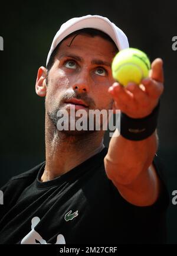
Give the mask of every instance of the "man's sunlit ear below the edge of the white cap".
<path id="1" fill-rule="evenodd" d="M 37 79 L 35 82 L 35 92 L 40 97 L 45 97 L 47 92 L 47 84 L 46 84 L 46 76 L 47 70 L 43 66 L 38 69 Z"/>

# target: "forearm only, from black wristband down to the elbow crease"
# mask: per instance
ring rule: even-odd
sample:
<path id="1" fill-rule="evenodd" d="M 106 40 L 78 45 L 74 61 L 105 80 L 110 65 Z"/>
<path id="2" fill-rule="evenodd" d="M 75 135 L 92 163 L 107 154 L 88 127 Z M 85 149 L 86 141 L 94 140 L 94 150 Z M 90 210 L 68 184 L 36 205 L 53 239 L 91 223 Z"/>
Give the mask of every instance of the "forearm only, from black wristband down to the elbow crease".
<path id="1" fill-rule="evenodd" d="M 117 130 L 115 133 L 119 135 Z M 156 133 L 140 141 L 127 140 L 121 135 L 113 136 L 105 157 L 107 175 L 120 184 L 132 183 L 141 171 L 148 169 L 157 146 Z"/>

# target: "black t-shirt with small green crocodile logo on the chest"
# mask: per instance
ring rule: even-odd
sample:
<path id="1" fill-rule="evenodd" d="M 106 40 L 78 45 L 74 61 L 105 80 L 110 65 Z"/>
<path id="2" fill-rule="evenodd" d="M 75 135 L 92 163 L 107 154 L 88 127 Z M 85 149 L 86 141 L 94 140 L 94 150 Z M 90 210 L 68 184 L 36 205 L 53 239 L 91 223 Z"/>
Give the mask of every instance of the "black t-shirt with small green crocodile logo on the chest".
<path id="1" fill-rule="evenodd" d="M 165 243 L 165 187 L 152 206 L 128 203 L 107 178 L 106 153 L 44 183 L 45 162 L 9 180 L 1 188 L 0 244 Z"/>

